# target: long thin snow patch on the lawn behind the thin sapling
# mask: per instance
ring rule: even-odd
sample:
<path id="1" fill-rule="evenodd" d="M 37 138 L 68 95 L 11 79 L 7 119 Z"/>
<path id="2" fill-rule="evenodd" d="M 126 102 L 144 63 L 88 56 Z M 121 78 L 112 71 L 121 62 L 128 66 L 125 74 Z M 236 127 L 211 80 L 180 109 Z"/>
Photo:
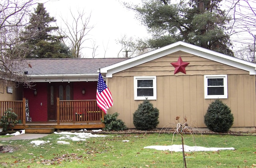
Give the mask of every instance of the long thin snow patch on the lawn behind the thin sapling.
<path id="1" fill-rule="evenodd" d="M 144 148 L 151 148 L 151 149 L 156 149 L 156 150 L 170 150 L 173 152 L 182 152 L 182 145 L 169 145 L 169 146 L 149 146 L 149 147 L 144 147 Z M 216 148 L 216 147 L 211 147 L 211 148 L 206 148 L 206 147 L 190 147 L 188 145 L 184 145 L 184 151 L 185 152 L 194 152 L 194 151 L 218 151 L 218 150 L 235 150 L 235 148 Z"/>

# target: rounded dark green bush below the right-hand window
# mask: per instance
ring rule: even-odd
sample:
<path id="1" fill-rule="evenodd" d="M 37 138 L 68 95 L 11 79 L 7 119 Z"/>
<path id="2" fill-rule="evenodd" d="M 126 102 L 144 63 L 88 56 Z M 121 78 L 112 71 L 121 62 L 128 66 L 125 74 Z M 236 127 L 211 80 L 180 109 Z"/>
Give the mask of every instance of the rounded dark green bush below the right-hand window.
<path id="1" fill-rule="evenodd" d="M 234 116 L 231 113 L 230 107 L 218 99 L 209 105 L 204 115 L 205 125 L 216 133 L 227 133 L 233 122 Z"/>

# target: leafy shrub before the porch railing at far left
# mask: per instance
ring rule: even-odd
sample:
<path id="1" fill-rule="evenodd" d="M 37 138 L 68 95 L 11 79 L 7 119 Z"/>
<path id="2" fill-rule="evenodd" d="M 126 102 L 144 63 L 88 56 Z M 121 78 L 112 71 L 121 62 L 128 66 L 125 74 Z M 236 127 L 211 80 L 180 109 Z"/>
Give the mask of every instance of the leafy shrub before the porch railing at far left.
<path id="1" fill-rule="evenodd" d="M 3 127 L 3 131 L 10 131 L 11 123 L 13 123 L 14 125 L 18 123 L 18 121 L 16 120 L 17 118 L 18 115 L 14 113 L 11 108 L 4 111 L 4 115 L 0 119 L 0 126 Z M 14 127 L 14 125 L 12 125 L 12 127 Z"/>

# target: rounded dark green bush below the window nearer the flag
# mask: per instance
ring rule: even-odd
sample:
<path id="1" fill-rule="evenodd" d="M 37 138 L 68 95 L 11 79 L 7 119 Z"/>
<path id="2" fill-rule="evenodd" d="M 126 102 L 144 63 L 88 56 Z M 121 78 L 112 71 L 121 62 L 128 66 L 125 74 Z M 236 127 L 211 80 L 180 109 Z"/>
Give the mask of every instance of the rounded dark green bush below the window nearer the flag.
<path id="1" fill-rule="evenodd" d="M 159 124 L 158 117 L 159 110 L 146 99 L 138 105 L 138 109 L 134 112 L 133 124 L 138 130 L 154 129 Z"/>

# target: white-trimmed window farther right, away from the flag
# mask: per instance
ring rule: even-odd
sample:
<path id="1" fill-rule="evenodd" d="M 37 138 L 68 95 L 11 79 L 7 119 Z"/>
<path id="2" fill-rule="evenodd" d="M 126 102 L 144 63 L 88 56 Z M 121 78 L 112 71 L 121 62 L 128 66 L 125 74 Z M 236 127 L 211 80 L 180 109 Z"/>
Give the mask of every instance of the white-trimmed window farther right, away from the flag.
<path id="1" fill-rule="evenodd" d="M 228 98 L 227 75 L 204 75 L 204 98 Z"/>

